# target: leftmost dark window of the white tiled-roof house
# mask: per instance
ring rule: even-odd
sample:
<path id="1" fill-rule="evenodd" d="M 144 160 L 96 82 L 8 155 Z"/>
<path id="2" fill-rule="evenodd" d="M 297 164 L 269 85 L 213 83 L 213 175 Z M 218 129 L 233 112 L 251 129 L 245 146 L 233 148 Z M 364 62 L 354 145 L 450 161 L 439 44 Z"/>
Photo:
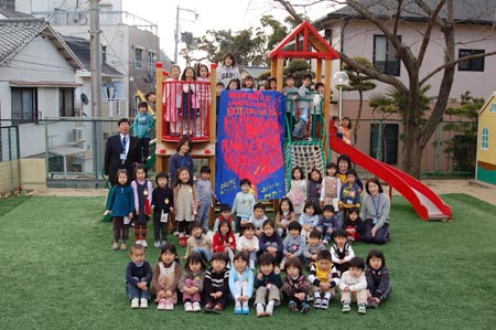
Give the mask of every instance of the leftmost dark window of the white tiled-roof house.
<path id="1" fill-rule="evenodd" d="M 12 121 L 14 125 L 37 119 L 36 88 L 11 88 Z"/>

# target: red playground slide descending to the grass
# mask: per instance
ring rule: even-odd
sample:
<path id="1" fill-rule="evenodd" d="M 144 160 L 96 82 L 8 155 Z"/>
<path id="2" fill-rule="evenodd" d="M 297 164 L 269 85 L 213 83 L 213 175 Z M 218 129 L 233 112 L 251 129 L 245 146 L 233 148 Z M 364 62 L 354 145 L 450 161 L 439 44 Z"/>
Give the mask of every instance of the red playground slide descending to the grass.
<path id="1" fill-rule="evenodd" d="M 434 191 L 416 178 L 365 155 L 355 147 L 346 145 L 335 134 L 330 132 L 330 141 L 331 149 L 337 153 L 346 153 L 354 163 L 386 181 L 402 194 L 423 220 L 452 219 L 451 206 L 445 204 Z"/>

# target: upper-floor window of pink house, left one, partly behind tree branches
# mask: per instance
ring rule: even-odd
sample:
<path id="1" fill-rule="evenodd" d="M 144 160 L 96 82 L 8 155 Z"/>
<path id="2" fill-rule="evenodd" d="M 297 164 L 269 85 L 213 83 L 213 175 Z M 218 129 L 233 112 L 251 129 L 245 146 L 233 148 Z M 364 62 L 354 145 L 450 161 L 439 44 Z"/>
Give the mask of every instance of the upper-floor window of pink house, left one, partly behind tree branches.
<path id="1" fill-rule="evenodd" d="M 401 35 L 398 35 L 401 42 Z M 400 61 L 396 57 L 392 44 L 385 35 L 374 35 L 374 66 L 384 74 L 400 75 Z"/>

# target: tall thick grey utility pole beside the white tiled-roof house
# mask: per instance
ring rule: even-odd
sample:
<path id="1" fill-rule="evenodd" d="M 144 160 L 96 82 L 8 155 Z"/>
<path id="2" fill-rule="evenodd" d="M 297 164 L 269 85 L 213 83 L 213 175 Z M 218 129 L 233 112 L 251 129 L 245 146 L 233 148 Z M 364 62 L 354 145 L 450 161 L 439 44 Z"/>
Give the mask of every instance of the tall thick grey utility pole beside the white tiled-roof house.
<path id="1" fill-rule="evenodd" d="M 90 0 L 89 7 L 89 58 L 91 71 L 91 117 L 101 115 L 101 46 L 100 46 L 100 0 Z M 98 188 L 98 173 L 104 159 L 104 134 L 100 121 L 93 124 L 93 164 L 95 188 Z"/>

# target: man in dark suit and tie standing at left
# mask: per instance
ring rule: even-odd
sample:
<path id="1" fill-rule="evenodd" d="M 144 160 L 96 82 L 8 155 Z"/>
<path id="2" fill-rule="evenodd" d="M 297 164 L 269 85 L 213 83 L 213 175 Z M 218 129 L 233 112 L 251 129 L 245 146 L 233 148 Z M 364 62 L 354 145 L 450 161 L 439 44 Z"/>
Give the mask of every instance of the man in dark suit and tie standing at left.
<path id="1" fill-rule="evenodd" d="M 132 179 L 133 166 L 142 162 L 140 141 L 129 134 L 129 119 L 121 118 L 117 125 L 119 134 L 109 137 L 105 148 L 104 173 L 112 187 L 117 184 L 117 170 L 126 169 Z"/>

